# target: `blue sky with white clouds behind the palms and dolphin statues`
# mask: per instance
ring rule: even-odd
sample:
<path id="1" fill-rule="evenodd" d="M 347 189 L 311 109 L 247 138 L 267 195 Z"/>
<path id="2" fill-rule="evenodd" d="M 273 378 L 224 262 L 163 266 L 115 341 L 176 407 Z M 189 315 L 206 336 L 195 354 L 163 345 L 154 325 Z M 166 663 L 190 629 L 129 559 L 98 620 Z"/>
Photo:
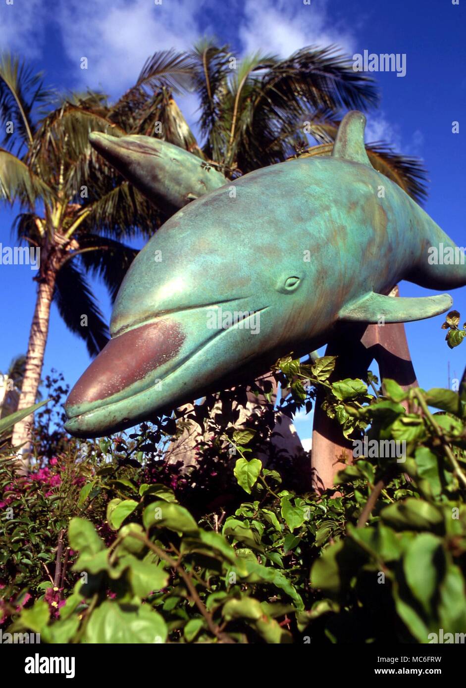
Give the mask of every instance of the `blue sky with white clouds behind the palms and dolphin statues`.
<path id="1" fill-rule="evenodd" d="M 129 87 L 146 58 L 156 50 L 189 47 L 204 34 L 218 37 L 242 55 L 282 56 L 304 45 L 337 43 L 352 55 L 364 50 L 406 55 L 407 72 L 374 73 L 381 106 L 368 114 L 366 140 L 385 140 L 417 155 L 429 171 L 425 210 L 456 241 L 466 245 L 466 0 L 0 0 L 0 50 L 13 50 L 63 91 L 100 87 L 116 97 Z M 82 56 L 87 70 L 80 68 Z M 182 107 L 195 123 L 194 96 Z M 460 133 L 452 133 L 452 122 Z M 14 213 L 0 210 L 0 242 L 11 244 Z M 35 283 L 28 266 L 0 266 L 3 296 L 0 370 L 25 352 L 34 309 Z M 109 299 L 95 284 L 109 316 Z M 403 296 L 428 292 L 401 284 Z M 454 290 L 454 308 L 466 320 L 466 288 Z M 440 329 L 443 317 L 406 325 L 421 386 L 445 387 L 462 374 L 466 345 L 450 351 Z M 84 343 L 67 332 L 52 308 L 44 374 L 55 367 L 73 384 L 89 363 Z M 301 437 L 310 436 L 309 419 L 297 419 Z"/>

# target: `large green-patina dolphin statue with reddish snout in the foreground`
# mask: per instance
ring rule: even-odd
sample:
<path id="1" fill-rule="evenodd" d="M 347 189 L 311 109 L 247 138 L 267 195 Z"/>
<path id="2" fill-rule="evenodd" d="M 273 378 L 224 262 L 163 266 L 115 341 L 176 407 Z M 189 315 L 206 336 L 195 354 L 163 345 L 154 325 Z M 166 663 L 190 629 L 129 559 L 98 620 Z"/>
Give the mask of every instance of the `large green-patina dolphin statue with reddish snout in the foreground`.
<path id="1" fill-rule="evenodd" d="M 374 170 L 365 125 L 348 113 L 332 156 L 248 173 L 157 230 L 120 287 L 112 338 L 67 398 L 67 431 L 120 431 L 250 380 L 280 356 L 324 345 L 339 323 L 415 321 L 451 307 L 448 294 L 387 295 L 401 279 L 465 286 L 466 265 L 431 261 L 432 247 L 459 249 Z"/>

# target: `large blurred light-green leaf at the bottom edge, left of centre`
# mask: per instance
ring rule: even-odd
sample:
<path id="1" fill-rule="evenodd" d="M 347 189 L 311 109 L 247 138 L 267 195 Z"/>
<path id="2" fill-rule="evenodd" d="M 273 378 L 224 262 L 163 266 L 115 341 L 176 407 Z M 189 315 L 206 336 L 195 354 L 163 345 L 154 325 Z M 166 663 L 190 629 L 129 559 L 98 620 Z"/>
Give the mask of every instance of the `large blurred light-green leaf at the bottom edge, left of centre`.
<path id="1" fill-rule="evenodd" d="M 97 644 L 165 643 L 167 626 L 148 605 L 124 611 L 118 603 L 105 601 L 92 612 L 85 637 L 87 643 Z"/>

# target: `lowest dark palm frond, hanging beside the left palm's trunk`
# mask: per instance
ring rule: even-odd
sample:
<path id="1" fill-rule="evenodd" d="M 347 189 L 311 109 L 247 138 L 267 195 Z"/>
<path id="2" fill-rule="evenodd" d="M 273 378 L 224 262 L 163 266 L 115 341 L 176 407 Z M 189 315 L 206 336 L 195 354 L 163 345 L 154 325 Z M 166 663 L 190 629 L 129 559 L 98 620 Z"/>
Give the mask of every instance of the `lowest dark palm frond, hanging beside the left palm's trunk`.
<path id="1" fill-rule="evenodd" d="M 54 303 L 68 329 L 85 341 L 90 356 L 96 356 L 109 339 L 109 329 L 74 260 L 67 261 L 56 276 Z"/>

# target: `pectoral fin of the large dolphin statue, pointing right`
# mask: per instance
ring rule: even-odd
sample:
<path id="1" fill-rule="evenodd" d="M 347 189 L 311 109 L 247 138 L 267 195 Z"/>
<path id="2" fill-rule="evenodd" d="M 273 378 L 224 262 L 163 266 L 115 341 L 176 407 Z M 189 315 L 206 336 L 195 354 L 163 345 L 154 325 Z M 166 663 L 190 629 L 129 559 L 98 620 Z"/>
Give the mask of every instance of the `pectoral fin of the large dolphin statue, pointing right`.
<path id="1" fill-rule="evenodd" d="M 369 292 L 361 299 L 352 301 L 339 312 L 339 320 L 363 323 L 408 323 L 413 320 L 433 318 L 452 307 L 449 294 L 434 297 L 386 297 Z"/>

